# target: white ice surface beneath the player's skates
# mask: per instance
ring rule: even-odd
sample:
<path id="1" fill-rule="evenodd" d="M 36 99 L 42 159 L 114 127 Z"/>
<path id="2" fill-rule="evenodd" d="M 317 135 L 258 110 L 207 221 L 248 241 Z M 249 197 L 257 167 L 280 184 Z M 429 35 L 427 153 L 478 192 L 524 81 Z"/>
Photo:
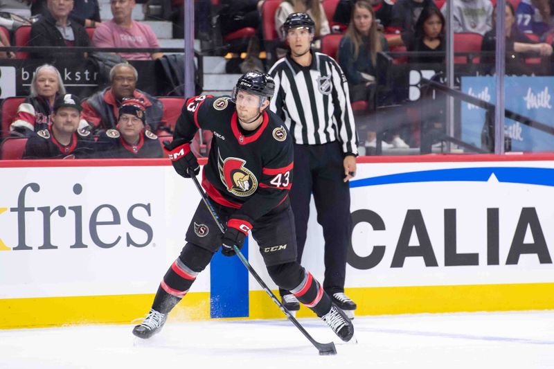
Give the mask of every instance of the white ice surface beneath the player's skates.
<path id="1" fill-rule="evenodd" d="M 554 368 L 551 311 L 358 316 L 357 345 L 299 321 L 337 355 L 319 356 L 284 319 L 170 321 L 147 341 L 131 324 L 0 330 L 0 368 Z"/>

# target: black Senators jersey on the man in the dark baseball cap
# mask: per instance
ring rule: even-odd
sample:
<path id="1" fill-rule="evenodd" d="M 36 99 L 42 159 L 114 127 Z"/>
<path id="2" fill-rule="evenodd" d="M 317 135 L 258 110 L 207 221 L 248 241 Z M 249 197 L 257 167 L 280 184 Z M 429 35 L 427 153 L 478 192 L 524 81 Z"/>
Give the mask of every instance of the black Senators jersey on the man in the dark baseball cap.
<path id="1" fill-rule="evenodd" d="M 87 129 L 73 132 L 69 145 L 62 145 L 52 134 L 51 128 L 48 128 L 30 136 L 23 159 L 62 159 L 71 155 L 75 158 L 89 158 L 93 155 L 94 148 L 94 139 Z"/>

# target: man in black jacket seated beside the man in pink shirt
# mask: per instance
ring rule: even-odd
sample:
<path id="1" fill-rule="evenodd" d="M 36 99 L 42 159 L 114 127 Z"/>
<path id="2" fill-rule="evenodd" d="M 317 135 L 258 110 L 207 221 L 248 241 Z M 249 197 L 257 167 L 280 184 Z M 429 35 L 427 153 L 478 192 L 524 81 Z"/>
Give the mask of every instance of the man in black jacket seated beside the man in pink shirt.
<path id="1" fill-rule="evenodd" d="M 73 10 L 73 0 L 48 0 L 48 13 L 30 28 L 30 46 L 91 46 L 89 35 L 84 27 L 76 21 L 69 20 L 69 12 Z M 31 53 L 30 57 L 48 60 L 67 60 L 82 58 L 86 54 L 56 51 L 53 53 Z"/>

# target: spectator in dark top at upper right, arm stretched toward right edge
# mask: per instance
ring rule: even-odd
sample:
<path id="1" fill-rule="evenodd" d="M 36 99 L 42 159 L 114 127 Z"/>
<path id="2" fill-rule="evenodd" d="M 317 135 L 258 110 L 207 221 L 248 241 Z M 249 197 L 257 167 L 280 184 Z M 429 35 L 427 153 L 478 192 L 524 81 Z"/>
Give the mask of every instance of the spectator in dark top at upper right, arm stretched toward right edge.
<path id="1" fill-rule="evenodd" d="M 494 8 L 494 18 L 496 18 L 497 8 Z M 526 74 L 525 54 L 535 54 L 540 56 L 552 55 L 552 46 L 544 42 L 534 42 L 524 33 L 519 32 L 515 24 L 515 11 L 511 3 L 506 3 L 506 74 Z M 494 51 L 496 49 L 497 33 L 494 28 L 483 37 L 481 51 Z M 484 55 L 481 58 L 483 72 L 485 74 L 494 73 L 494 56 Z"/>

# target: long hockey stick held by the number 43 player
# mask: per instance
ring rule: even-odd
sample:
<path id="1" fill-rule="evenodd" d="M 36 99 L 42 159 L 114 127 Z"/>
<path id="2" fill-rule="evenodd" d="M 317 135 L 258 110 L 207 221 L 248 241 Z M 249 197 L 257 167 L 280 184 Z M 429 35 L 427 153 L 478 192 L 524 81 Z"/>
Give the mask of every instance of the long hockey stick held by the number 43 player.
<path id="1" fill-rule="evenodd" d="M 202 186 L 200 186 L 200 183 L 198 182 L 198 179 L 196 179 L 196 176 L 193 172 L 193 170 L 188 170 L 188 174 L 190 174 L 190 178 L 193 179 L 196 188 L 198 189 L 198 192 L 200 192 L 200 195 L 202 196 L 202 200 L 204 201 L 204 204 L 206 204 L 206 207 L 208 208 L 208 211 L 213 217 L 213 220 L 215 221 L 215 224 L 217 224 L 217 227 L 220 228 L 221 233 L 225 233 L 225 228 L 223 227 L 223 224 L 220 222 L 220 218 L 217 216 L 217 213 L 215 212 L 215 209 L 213 208 L 210 199 L 208 199 L 208 196 L 206 195 L 206 192 L 202 189 Z M 281 309 L 283 313 L 285 313 L 285 316 L 289 318 L 289 321 L 292 321 L 292 324 L 294 324 L 300 332 L 312 343 L 312 345 L 315 346 L 317 350 L 319 350 L 320 355 L 334 355 L 337 354 L 337 349 L 334 348 L 334 343 L 319 343 L 318 341 L 314 340 L 312 336 L 304 329 L 304 327 L 298 323 L 296 318 L 290 314 L 289 310 L 279 301 L 279 299 L 275 296 L 273 292 L 271 292 L 271 289 L 267 287 L 265 282 L 258 276 L 258 273 L 253 269 L 251 264 L 248 262 L 246 258 L 244 258 L 244 255 L 240 252 L 240 249 L 233 245 L 233 249 L 235 249 L 235 253 L 238 255 L 238 258 L 244 264 L 244 267 L 247 267 L 248 271 L 251 273 L 251 275 L 258 281 L 260 286 L 266 291 L 266 293 L 271 297 L 271 300 L 273 300 L 274 303 Z"/>

